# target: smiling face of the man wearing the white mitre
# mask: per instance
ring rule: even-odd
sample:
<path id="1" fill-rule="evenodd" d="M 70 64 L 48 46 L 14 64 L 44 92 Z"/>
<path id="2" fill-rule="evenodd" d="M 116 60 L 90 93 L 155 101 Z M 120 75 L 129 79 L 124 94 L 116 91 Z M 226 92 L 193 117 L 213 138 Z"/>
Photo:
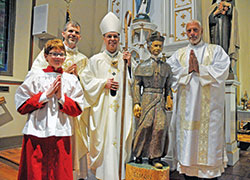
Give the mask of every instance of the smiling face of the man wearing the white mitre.
<path id="1" fill-rule="evenodd" d="M 104 34 L 103 41 L 106 45 L 106 50 L 110 53 L 114 53 L 119 45 L 119 34 L 117 32 L 108 32 Z"/>

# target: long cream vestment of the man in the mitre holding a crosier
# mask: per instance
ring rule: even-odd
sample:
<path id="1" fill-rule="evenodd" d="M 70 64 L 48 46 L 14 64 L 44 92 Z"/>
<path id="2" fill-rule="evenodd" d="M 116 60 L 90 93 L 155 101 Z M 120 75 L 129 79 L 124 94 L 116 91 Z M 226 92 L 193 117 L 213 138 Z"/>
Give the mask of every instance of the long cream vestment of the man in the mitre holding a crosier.
<path id="1" fill-rule="evenodd" d="M 91 170 L 96 178 L 102 180 L 119 179 L 121 111 L 123 92 L 124 61 L 122 53 L 115 57 L 106 50 L 90 58 L 86 68 L 80 74 L 85 100 L 90 108 L 89 152 Z M 117 68 L 111 66 L 118 61 Z M 108 78 L 119 82 L 116 96 L 104 88 Z M 125 117 L 123 131 L 122 178 L 125 178 L 125 162 L 130 158 L 132 143 L 132 96 L 131 78 L 127 70 Z M 88 121 L 86 119 L 86 121 Z"/>

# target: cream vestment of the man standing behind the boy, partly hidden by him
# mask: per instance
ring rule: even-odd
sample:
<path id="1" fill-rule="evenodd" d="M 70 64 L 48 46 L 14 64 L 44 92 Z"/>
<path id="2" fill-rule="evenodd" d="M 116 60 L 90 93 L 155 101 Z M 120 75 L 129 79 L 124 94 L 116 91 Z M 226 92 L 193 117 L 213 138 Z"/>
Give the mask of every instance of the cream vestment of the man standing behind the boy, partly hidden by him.
<path id="1" fill-rule="evenodd" d="M 70 49 L 64 45 L 66 49 L 66 59 L 62 65 L 65 70 L 69 66 L 76 64 L 77 72 L 83 70 L 88 62 L 88 58 L 78 51 L 78 48 Z M 31 70 L 45 69 L 48 66 L 48 62 L 44 57 L 44 49 L 38 54 L 34 60 Z M 82 115 L 75 117 L 78 121 L 74 121 L 73 136 L 72 136 L 72 155 L 73 155 L 73 168 L 78 173 L 78 178 L 87 178 L 88 167 L 86 154 L 88 152 L 88 143 L 83 139 L 82 133 L 85 133 L 86 126 L 81 122 Z M 83 126 L 83 127 L 82 127 Z M 75 136 L 75 134 L 77 136 Z M 80 160 L 80 164 L 78 160 Z M 77 179 L 78 179 L 77 178 Z"/>

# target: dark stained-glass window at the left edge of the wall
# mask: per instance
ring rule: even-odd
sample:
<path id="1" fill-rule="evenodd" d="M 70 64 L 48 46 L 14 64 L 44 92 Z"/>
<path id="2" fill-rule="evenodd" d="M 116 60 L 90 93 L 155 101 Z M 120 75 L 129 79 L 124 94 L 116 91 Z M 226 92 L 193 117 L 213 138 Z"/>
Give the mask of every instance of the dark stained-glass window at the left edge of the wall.
<path id="1" fill-rule="evenodd" d="M 16 0 L 0 0 L 0 75 L 13 75 Z"/>

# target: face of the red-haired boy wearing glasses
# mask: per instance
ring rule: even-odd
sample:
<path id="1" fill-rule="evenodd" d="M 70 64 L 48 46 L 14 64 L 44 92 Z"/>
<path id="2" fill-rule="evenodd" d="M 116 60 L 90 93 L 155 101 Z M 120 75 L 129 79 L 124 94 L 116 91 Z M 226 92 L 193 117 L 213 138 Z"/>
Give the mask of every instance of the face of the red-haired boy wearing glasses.
<path id="1" fill-rule="evenodd" d="M 44 54 L 46 61 L 50 66 L 54 67 L 55 70 L 62 67 L 65 60 L 65 51 L 59 48 L 53 48 L 48 54 Z"/>

